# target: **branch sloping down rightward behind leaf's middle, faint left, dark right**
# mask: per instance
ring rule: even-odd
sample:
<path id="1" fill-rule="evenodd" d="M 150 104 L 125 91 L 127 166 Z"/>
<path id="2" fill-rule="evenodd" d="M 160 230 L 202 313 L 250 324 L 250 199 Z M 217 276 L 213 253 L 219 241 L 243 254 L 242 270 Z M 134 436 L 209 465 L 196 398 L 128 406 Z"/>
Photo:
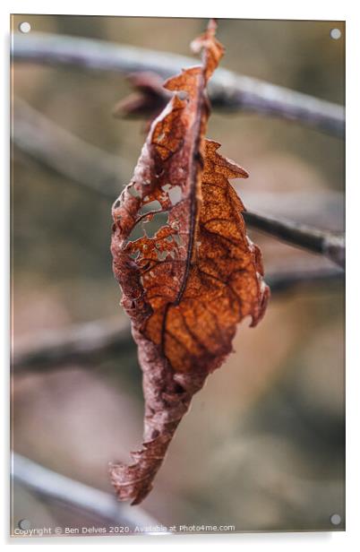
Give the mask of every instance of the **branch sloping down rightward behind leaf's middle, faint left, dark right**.
<path id="1" fill-rule="evenodd" d="M 47 167 L 90 187 L 112 202 L 115 200 L 116 193 L 112 191 L 112 186 L 116 182 L 116 156 L 104 153 L 64 131 L 19 99 L 14 102 L 13 142 L 21 151 Z M 253 211 L 244 212 L 244 219 L 249 226 L 270 236 L 323 254 L 342 267 L 345 264 L 343 234 L 314 229 L 292 220 L 281 220 Z"/>

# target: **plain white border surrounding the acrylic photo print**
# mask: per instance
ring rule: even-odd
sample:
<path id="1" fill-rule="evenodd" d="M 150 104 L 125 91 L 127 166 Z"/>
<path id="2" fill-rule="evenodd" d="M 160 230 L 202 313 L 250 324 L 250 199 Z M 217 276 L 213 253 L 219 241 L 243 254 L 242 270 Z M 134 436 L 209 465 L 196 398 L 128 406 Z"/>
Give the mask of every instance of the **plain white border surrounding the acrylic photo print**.
<path id="1" fill-rule="evenodd" d="M 99 3 L 90 4 L 88 2 L 74 2 L 63 0 L 62 2 L 48 1 L 14 1 L 3 2 L 1 6 L 0 24 L 2 26 L 3 47 L 4 47 L 4 68 L 2 71 L 3 85 L 1 87 L 1 120 L 5 121 L 2 138 L 1 154 L 4 157 L 1 167 L 3 172 L 2 186 L 2 201 L 3 207 L 3 228 L 1 240 L 1 258 L 3 260 L 1 279 L 2 279 L 2 298 L 3 305 L 8 305 L 8 153 L 9 153 L 9 127 L 8 121 L 8 39 L 9 36 L 9 14 L 10 13 L 68 13 L 68 14 L 99 14 L 99 15 L 129 15 L 129 16 L 182 16 L 182 17 L 233 17 L 233 18 L 248 18 L 248 19 L 302 19 L 302 20 L 331 20 L 331 21 L 347 21 L 347 531 L 334 533 L 256 533 L 256 534 L 237 534 L 224 536 L 184 536 L 181 538 L 122 538 L 117 539 L 63 539 L 56 542 L 61 543 L 60 547 L 66 546 L 66 549 L 73 546 L 95 546 L 103 547 L 104 544 L 121 546 L 146 546 L 147 548 L 159 548 L 161 546 L 184 546 L 195 544 L 196 546 L 205 545 L 206 548 L 218 547 L 221 544 L 229 548 L 251 547 L 253 550 L 262 550 L 266 547 L 267 552 L 272 550 L 279 552 L 279 549 L 303 549 L 304 547 L 313 546 L 317 550 L 339 550 L 354 548 L 360 542 L 359 539 L 359 470 L 360 470 L 360 448 L 359 439 L 360 423 L 358 418 L 358 409 L 360 393 L 360 353 L 359 353 L 359 266 L 358 258 L 360 247 L 358 240 L 360 230 L 358 227 L 359 220 L 359 153 L 360 145 L 358 134 L 360 132 L 358 103 L 360 99 L 359 87 L 359 34 L 360 34 L 360 18 L 356 9 L 356 0 L 341 0 L 341 2 L 302 0 L 298 3 L 280 2 L 279 0 L 260 1 L 257 2 L 236 2 L 236 0 L 206 0 L 203 3 L 195 3 L 193 0 L 181 0 L 180 2 L 160 2 L 159 0 L 148 0 L 143 2 L 138 0 L 136 3 L 123 3 L 108 0 L 101 0 Z M 8 317 L 6 309 L 4 309 L 2 318 L 2 342 L 0 350 L 3 353 L 2 368 L 4 372 L 8 366 Z M 4 380 L 3 380 L 4 383 Z M 4 453 L 1 455 L 1 463 L 4 468 L 4 483 L 7 485 L 8 479 L 8 462 L 6 460 L 6 451 L 8 448 L 8 389 L 5 384 L 2 385 L 2 399 L 4 402 L 3 424 L 1 428 L 2 444 L 4 444 Z M 4 456 L 5 455 L 5 456 Z M 3 487 L 4 488 L 4 487 Z M 8 521 L 5 513 L 8 510 L 8 496 L 4 496 L 1 501 L 4 508 L 1 513 L 2 537 L 4 542 L 9 543 L 6 539 L 8 533 Z M 12 546 L 18 547 L 25 544 L 25 540 L 12 540 Z M 55 539 L 32 539 L 26 541 L 27 546 L 55 544 Z M 358 547 L 357 547 L 358 549 Z"/>

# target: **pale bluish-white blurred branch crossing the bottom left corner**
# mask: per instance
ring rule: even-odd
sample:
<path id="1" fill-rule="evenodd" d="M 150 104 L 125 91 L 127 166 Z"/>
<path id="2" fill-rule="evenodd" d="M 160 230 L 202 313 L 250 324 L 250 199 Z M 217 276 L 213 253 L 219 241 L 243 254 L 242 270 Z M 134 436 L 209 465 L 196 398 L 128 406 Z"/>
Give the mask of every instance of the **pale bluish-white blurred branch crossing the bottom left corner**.
<path id="1" fill-rule="evenodd" d="M 136 526 L 145 528 L 159 525 L 141 507 L 119 504 L 115 496 L 47 470 L 21 454 L 13 453 L 12 476 L 14 482 L 27 487 L 41 499 L 75 507 L 104 522 L 126 525 L 131 530 Z"/>

